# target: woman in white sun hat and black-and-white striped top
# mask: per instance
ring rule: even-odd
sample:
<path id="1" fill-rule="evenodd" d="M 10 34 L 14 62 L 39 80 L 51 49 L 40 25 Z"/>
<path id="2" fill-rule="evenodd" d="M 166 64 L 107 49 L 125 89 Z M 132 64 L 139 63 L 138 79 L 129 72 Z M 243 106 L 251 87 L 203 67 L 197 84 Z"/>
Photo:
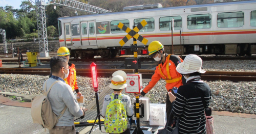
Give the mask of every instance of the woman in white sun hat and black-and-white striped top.
<path id="1" fill-rule="evenodd" d="M 180 118 L 180 133 L 206 133 L 205 109 L 211 99 L 210 87 L 201 80 L 205 73 L 202 59 L 188 55 L 176 70 L 186 78 L 186 85 L 180 86 L 175 97 L 168 92 L 170 102 L 174 102 L 173 114 Z"/>

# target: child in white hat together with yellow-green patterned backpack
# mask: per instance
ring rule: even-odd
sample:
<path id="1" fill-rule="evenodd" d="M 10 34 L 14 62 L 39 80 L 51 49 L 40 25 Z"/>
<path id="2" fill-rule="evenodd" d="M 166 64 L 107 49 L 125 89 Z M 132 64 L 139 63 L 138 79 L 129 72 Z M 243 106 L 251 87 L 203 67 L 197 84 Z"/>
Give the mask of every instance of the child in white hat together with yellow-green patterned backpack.
<path id="1" fill-rule="evenodd" d="M 104 128 L 109 133 L 129 133 L 127 128 L 128 118 L 133 116 L 133 108 L 131 107 L 131 98 L 122 94 L 126 84 L 126 73 L 124 71 L 116 71 L 112 74 L 110 88 L 114 93 L 104 97 L 102 106 L 102 116 L 104 119 Z"/>

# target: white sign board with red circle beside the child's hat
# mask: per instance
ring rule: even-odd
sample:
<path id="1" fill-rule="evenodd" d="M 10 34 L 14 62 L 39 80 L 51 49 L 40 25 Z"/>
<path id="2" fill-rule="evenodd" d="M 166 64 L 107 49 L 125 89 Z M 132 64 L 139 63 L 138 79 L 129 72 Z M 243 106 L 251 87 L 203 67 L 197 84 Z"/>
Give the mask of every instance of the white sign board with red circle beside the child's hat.
<path id="1" fill-rule="evenodd" d="M 140 93 L 140 89 L 142 88 L 141 74 L 127 74 L 126 84 L 125 91 L 127 93 Z"/>

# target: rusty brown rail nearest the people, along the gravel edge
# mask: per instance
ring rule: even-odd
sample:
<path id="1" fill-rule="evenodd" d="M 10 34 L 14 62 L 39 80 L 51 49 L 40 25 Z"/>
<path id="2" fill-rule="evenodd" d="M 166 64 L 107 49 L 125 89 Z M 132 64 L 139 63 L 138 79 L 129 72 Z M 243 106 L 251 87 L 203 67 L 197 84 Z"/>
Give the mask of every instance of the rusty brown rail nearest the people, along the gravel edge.
<path id="1" fill-rule="evenodd" d="M 117 69 L 97 69 L 98 76 L 111 77 Z M 133 73 L 133 69 L 122 69 L 126 73 Z M 91 69 L 76 69 L 79 76 L 91 77 Z M 151 78 L 154 70 L 139 69 L 142 78 Z M 30 74 L 30 75 L 49 75 L 50 68 L 0 68 L 0 74 Z M 202 75 L 205 81 L 256 81 L 256 72 L 225 72 L 207 71 Z"/>

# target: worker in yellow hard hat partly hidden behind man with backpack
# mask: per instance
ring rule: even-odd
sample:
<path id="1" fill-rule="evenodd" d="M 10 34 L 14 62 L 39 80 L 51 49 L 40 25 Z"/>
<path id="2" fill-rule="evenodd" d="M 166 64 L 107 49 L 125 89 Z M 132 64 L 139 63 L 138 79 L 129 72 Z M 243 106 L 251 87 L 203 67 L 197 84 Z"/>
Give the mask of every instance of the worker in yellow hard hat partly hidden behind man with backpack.
<path id="1" fill-rule="evenodd" d="M 57 55 L 66 57 L 67 60 L 69 61 L 70 52 L 67 47 L 65 47 L 65 46 L 59 47 L 59 49 L 57 51 Z M 75 65 L 70 62 L 68 64 L 69 64 L 69 68 L 66 68 L 68 70 L 68 73 L 66 75 L 68 75 L 68 76 L 67 76 L 67 78 L 64 79 L 64 81 L 66 82 L 66 84 L 68 84 L 72 88 L 72 91 L 75 90 L 77 95 L 81 96 L 82 94 L 79 92 L 79 89 L 77 86 L 77 81 L 76 81 Z M 51 77 L 51 76 L 52 76 L 52 72 L 50 73 L 49 77 Z"/>

